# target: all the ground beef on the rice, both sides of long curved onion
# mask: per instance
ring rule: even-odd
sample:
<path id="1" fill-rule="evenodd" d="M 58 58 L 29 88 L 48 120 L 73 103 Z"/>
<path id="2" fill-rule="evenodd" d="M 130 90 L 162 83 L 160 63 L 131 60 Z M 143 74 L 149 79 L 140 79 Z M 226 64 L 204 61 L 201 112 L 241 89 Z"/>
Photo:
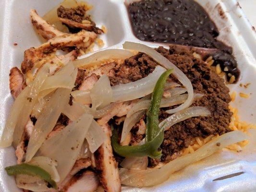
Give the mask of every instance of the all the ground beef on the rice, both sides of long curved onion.
<path id="1" fill-rule="evenodd" d="M 160 146 L 163 154 L 161 159 L 149 159 L 149 166 L 151 167 L 156 166 L 159 161 L 169 162 L 172 160 L 179 151 L 191 144 L 194 137 L 205 138 L 210 134 L 220 135 L 229 132 L 232 116 L 228 104 L 231 101 L 229 89 L 216 72 L 211 71 L 203 61 L 196 59 L 192 53 L 185 50 L 175 51 L 173 47 L 170 50 L 162 47 L 156 50 L 185 73 L 192 82 L 195 93 L 204 95 L 196 100 L 192 106 L 207 107 L 211 111 L 211 116 L 190 118 L 173 125 L 164 134 L 164 141 Z M 139 53 L 126 59 L 123 65 L 116 67 L 115 75 L 110 78 L 111 84 L 129 83 L 141 79 L 154 71 L 156 65 L 157 63 L 146 54 Z M 177 81 L 173 77 L 171 79 Z M 170 114 L 165 113 L 167 109 L 170 108 L 161 108 L 159 121 L 170 116 Z M 141 139 L 138 137 L 136 126 L 131 133 L 133 135 L 132 143 Z"/>

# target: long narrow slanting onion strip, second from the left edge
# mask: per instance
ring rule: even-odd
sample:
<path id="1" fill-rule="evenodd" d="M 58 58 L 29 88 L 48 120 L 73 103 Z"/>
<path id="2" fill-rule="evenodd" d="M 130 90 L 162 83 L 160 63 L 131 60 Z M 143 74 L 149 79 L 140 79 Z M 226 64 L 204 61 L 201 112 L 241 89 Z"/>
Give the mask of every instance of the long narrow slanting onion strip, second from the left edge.
<path id="1" fill-rule="evenodd" d="M 48 64 L 44 65 L 39 70 L 35 80 L 32 82 L 31 90 L 28 93 L 28 95 L 26 96 L 27 99 L 25 101 L 23 101 L 24 102 L 23 108 L 21 109 L 19 117 L 16 121 L 15 130 L 13 133 L 14 147 L 16 147 L 21 141 L 24 127 L 25 127 L 27 121 L 29 120 L 29 116 L 30 116 L 34 106 L 37 103 L 37 97 L 38 97 L 39 91 L 40 91 L 42 85 L 44 84 L 45 79 L 47 78 L 48 71 L 49 71 Z M 19 110 L 19 109 L 17 109 L 17 110 Z"/>

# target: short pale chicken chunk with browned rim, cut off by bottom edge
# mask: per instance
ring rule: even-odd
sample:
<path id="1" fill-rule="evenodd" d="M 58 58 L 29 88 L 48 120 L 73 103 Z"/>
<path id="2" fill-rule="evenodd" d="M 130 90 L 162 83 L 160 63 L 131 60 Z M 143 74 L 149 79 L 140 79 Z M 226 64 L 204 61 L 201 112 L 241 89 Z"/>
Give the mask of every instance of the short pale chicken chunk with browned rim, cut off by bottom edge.
<path id="1" fill-rule="evenodd" d="M 75 175 L 69 181 L 63 192 L 95 192 L 99 181 L 97 174 L 92 171 L 85 171 L 81 175 Z"/>

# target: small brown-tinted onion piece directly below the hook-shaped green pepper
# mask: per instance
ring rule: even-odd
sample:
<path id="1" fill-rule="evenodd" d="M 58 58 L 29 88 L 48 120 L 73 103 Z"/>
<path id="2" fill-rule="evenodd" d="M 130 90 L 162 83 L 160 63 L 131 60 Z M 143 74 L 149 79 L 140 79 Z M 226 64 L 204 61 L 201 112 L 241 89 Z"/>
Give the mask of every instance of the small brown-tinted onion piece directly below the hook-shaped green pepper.
<path id="1" fill-rule="evenodd" d="M 147 156 L 142 157 L 126 157 L 122 160 L 120 165 L 122 168 L 126 169 L 138 169 L 138 170 L 144 170 L 147 168 L 148 164 L 148 158 Z"/>

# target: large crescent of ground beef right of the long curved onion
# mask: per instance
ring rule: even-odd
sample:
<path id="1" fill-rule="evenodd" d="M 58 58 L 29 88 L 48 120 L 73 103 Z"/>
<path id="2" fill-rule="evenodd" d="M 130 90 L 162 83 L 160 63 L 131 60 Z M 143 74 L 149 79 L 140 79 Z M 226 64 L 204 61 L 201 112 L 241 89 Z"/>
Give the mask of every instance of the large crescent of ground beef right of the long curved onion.
<path id="1" fill-rule="evenodd" d="M 216 72 L 211 71 L 207 65 L 194 58 L 189 52 L 176 52 L 173 48 L 167 50 L 158 48 L 157 51 L 181 69 L 192 82 L 195 93 L 204 94 L 192 106 L 204 106 L 211 111 L 209 117 L 195 117 L 184 120 L 171 127 L 164 134 L 164 141 L 160 146 L 162 162 L 172 160 L 172 155 L 191 144 L 192 138 L 203 138 L 210 134 L 223 134 L 229 132 L 229 123 L 232 112 L 229 109 L 229 89 L 224 80 Z M 174 80 L 175 81 L 175 80 Z M 165 113 L 169 108 L 161 108 L 159 120 L 164 120 L 170 115 Z M 158 160 L 150 159 L 150 166 L 156 166 Z"/>

